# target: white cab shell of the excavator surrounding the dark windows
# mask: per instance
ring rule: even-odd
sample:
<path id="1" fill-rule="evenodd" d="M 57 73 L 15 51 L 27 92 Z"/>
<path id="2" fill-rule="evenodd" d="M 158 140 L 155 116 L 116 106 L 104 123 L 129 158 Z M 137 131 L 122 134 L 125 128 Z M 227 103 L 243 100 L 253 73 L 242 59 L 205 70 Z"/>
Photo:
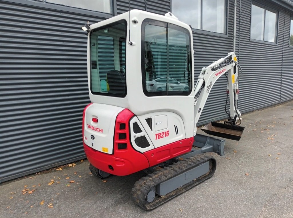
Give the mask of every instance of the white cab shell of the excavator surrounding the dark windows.
<path id="1" fill-rule="evenodd" d="M 130 18 L 130 22 L 129 22 Z M 186 138 L 193 137 L 194 127 L 194 90 L 192 89 L 189 96 L 155 96 L 147 97 L 143 93 L 142 89 L 142 66 L 141 66 L 141 25 L 142 21 L 146 18 L 159 20 L 162 22 L 172 23 L 181 26 L 190 32 L 190 27 L 178 21 L 177 19 L 161 16 L 145 11 L 132 10 L 127 13 L 103 20 L 99 23 L 90 26 L 91 29 L 101 27 L 103 25 L 125 19 L 127 21 L 127 40 L 129 40 L 129 29 L 131 30 L 132 45 L 126 43 L 126 84 L 127 84 L 127 95 L 124 98 L 120 97 L 109 97 L 102 95 L 93 95 L 89 87 L 89 96 L 91 102 L 98 102 L 101 104 L 108 104 L 118 107 L 127 108 L 132 111 L 135 115 L 144 116 L 145 114 L 156 113 L 159 111 L 172 112 L 178 114 L 184 123 L 184 135 Z M 137 23 L 132 22 L 137 20 Z M 90 29 L 90 30 L 91 30 Z M 193 48 L 191 40 L 191 48 Z M 193 50 L 192 54 L 193 56 Z M 90 57 L 90 45 L 88 40 L 88 57 Z M 191 62 L 191 74 L 193 76 L 193 59 Z M 88 58 L 88 83 L 90 84 L 90 58 Z M 131 84 L 131 85 L 130 85 Z M 192 87 L 194 87 L 194 80 L 192 78 Z M 160 113 L 162 114 L 162 113 Z M 143 125 L 144 126 L 144 125 Z M 174 139 L 174 141 L 176 141 Z"/>

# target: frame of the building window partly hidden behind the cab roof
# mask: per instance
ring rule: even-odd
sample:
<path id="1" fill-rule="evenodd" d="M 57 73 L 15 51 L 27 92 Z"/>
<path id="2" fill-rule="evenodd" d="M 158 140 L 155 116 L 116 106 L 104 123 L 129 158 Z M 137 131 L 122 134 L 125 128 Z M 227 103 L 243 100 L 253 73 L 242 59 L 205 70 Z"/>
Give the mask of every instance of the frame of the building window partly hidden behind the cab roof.
<path id="1" fill-rule="evenodd" d="M 171 13 L 173 13 L 173 4 L 171 1 Z M 196 29 L 196 28 L 191 28 L 192 32 L 196 32 L 196 33 L 201 33 L 201 34 L 205 34 L 205 35 L 213 35 L 213 36 L 220 36 L 220 37 L 225 37 L 228 38 L 228 18 L 229 18 L 229 4 L 228 4 L 228 0 L 225 0 L 225 20 L 224 20 L 224 33 L 220 33 L 220 32 L 212 32 L 212 31 L 208 31 L 208 30 L 202 30 L 202 0 L 200 1 L 200 28 L 201 29 Z M 176 16 L 176 14 L 174 14 Z M 180 20 L 182 21 L 182 20 Z M 184 22 L 184 21 L 182 21 Z"/>

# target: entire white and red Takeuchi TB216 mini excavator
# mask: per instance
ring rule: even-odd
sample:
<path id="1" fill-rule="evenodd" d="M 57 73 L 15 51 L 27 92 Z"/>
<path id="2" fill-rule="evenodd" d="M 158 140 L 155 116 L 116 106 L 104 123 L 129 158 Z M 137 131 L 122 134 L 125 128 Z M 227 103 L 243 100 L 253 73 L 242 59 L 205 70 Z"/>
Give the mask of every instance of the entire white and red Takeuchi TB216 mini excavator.
<path id="1" fill-rule="evenodd" d="M 203 131 L 241 138 L 235 54 L 202 68 L 195 84 L 191 29 L 171 13 L 132 10 L 82 28 L 92 102 L 84 109 L 83 142 L 91 172 L 106 178 L 144 170 L 132 188 L 144 210 L 210 178 L 216 160 L 204 153 L 224 155 L 225 140 L 197 134 L 196 124 L 214 83 L 225 75 L 229 119 Z"/>

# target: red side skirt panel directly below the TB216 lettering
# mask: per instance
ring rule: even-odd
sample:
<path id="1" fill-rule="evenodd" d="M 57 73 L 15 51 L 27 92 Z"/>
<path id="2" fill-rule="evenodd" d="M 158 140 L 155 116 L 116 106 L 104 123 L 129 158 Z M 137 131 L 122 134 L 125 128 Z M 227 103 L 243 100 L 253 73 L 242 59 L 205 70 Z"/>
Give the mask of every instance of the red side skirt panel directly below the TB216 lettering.
<path id="1" fill-rule="evenodd" d="M 190 152 L 193 144 L 193 137 L 186 138 L 168 145 L 164 145 L 153 150 L 144 152 L 144 155 L 149 160 L 149 166 L 162 163 L 178 155 Z"/>

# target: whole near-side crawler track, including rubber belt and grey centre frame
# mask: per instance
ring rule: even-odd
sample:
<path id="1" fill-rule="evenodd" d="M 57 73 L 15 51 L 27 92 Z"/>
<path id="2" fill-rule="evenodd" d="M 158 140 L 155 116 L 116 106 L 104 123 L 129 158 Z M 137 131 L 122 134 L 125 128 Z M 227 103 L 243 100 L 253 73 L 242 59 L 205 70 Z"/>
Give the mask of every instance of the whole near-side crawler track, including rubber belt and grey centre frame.
<path id="1" fill-rule="evenodd" d="M 204 154 L 180 160 L 139 179 L 132 199 L 144 210 L 152 210 L 213 176 L 216 160 Z"/>

